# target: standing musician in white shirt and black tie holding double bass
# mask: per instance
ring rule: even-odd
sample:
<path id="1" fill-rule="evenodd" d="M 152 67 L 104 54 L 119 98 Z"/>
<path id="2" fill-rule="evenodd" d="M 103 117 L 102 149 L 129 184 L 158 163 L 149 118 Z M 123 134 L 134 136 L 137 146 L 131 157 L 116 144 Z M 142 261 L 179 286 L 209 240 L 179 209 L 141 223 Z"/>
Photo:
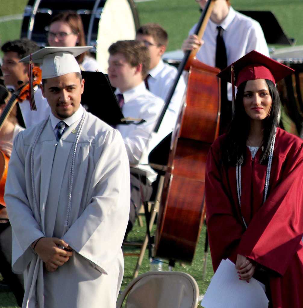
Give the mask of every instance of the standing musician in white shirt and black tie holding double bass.
<path id="1" fill-rule="evenodd" d="M 208 0 L 200 0 L 203 10 Z M 214 1 L 213 11 L 207 23 L 202 40 L 193 34 L 196 25 L 189 31 L 182 50 L 197 51 L 197 59 L 221 70 L 237 61 L 248 52 L 256 50 L 269 56 L 267 43 L 260 24 L 230 6 L 229 0 Z M 227 87 L 227 90 L 226 90 Z M 227 92 L 226 92 L 227 91 Z M 231 120 L 231 85 L 221 81 L 220 132 L 224 132 Z"/>

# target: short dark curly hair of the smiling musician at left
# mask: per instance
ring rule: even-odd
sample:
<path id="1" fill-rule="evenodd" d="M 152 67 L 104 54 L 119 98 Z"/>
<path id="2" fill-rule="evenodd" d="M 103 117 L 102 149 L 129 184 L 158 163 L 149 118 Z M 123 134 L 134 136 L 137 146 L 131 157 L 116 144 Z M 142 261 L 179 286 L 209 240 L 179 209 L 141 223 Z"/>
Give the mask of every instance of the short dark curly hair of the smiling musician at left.
<path id="1" fill-rule="evenodd" d="M 20 59 L 26 57 L 27 55 L 39 50 L 40 47 L 29 39 L 17 39 L 15 41 L 8 41 L 2 45 L 2 52 L 13 51 L 18 54 Z"/>

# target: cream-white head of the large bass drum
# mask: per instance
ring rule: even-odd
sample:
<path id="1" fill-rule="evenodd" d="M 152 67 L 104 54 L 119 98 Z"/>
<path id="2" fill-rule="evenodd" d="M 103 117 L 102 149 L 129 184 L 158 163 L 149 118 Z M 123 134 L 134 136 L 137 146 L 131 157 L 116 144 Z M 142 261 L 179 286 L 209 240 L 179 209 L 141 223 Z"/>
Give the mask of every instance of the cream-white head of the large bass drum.
<path id="1" fill-rule="evenodd" d="M 98 30 L 97 61 L 105 72 L 108 68 L 108 48 L 119 40 L 132 40 L 136 36 L 131 2 L 127 0 L 106 0 Z"/>

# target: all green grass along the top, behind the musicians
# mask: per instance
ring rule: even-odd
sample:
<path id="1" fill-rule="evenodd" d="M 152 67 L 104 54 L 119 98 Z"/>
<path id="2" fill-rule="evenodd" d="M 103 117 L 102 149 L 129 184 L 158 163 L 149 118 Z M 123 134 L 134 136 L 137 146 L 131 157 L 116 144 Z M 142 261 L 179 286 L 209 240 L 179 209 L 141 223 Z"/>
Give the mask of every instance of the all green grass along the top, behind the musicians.
<path id="1" fill-rule="evenodd" d="M 271 10 L 288 37 L 296 39 L 297 45 L 303 44 L 301 0 L 231 0 L 231 3 L 237 10 Z M 22 14 L 26 4 L 27 0 L 0 0 L 0 17 Z M 157 22 L 168 31 L 168 51 L 181 47 L 189 29 L 200 16 L 194 0 L 153 0 L 138 2 L 136 7 L 141 24 Z M 1 43 L 18 38 L 21 23 L 21 20 L 1 22 Z"/>

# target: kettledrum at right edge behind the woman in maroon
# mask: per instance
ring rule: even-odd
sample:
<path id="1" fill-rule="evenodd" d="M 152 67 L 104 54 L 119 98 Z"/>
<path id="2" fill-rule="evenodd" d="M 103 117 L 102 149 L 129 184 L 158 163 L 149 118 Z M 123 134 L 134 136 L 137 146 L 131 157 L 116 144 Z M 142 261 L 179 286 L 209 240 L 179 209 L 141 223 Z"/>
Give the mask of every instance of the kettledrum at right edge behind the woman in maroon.
<path id="1" fill-rule="evenodd" d="M 289 120 L 282 124 L 287 131 L 303 137 L 303 46 L 277 49 L 271 53 L 271 58 L 295 70 L 277 83 L 280 98 Z M 286 127 L 287 125 L 287 127 Z"/>

